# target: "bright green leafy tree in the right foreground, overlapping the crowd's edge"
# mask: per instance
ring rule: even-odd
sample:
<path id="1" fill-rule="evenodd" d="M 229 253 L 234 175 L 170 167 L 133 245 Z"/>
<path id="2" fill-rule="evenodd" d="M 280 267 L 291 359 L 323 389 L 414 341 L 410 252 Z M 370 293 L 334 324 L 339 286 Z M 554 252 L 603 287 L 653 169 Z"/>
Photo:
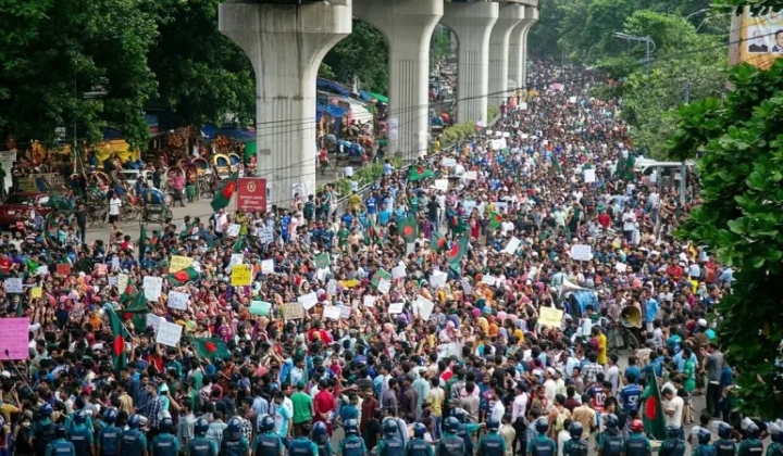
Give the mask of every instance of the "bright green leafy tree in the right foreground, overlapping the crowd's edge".
<path id="1" fill-rule="evenodd" d="M 737 271 L 718 306 L 718 338 L 739 372 L 742 407 L 772 419 L 783 409 L 783 368 L 775 366 L 783 340 L 783 61 L 766 72 L 735 66 L 730 81 L 735 90 L 725 103 L 708 98 L 680 109 L 668 148 L 681 159 L 703 152 L 704 201 L 682 235 Z"/>

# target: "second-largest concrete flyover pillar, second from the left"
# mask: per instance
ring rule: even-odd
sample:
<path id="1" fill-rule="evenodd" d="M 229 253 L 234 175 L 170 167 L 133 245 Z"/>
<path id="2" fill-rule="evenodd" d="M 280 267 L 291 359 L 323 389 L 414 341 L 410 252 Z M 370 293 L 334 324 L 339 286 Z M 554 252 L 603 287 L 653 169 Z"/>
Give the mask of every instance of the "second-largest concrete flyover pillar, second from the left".
<path id="1" fill-rule="evenodd" d="M 355 0 L 353 15 L 386 37 L 389 47 L 389 152 L 426 155 L 430 41 L 443 0 Z"/>

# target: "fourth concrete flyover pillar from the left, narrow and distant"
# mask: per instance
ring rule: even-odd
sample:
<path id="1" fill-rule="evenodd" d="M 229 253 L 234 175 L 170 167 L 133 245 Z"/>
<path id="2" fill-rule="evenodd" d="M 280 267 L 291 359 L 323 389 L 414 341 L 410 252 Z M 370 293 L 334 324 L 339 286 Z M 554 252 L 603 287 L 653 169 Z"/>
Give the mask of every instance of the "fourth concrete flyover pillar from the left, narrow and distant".
<path id="1" fill-rule="evenodd" d="M 498 20 L 489 35 L 489 104 L 500 106 L 509 93 L 509 37 L 523 18 L 523 5 L 500 4 Z"/>

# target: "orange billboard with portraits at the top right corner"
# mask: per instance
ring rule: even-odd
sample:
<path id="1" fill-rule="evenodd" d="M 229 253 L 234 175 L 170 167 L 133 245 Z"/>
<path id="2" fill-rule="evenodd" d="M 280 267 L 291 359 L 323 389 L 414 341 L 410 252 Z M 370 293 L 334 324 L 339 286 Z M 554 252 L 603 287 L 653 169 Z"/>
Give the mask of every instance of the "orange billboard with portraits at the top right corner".
<path id="1" fill-rule="evenodd" d="M 751 15 L 746 8 L 739 26 L 739 62 L 760 69 L 783 56 L 783 11 Z"/>

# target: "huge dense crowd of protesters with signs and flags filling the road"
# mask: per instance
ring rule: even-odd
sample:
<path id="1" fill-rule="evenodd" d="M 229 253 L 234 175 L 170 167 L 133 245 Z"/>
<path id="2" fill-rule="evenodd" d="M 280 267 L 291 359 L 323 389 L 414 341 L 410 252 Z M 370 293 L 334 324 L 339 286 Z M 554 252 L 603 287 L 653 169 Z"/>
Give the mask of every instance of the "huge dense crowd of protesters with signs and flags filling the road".
<path id="1" fill-rule="evenodd" d="M 488 130 L 345 210 L 326 186 L 139 240 L 18 226 L 0 312 L 29 318 L 29 359 L 0 372 L 0 455 L 645 456 L 657 436 L 676 456 L 695 420 L 694 454 L 771 435 L 780 455 L 780 423 L 735 411 L 713 340 L 732 270 L 672 235 L 689 205 L 633 172 L 600 74 L 531 77 Z M 626 307 L 630 356 L 600 324 Z"/>

